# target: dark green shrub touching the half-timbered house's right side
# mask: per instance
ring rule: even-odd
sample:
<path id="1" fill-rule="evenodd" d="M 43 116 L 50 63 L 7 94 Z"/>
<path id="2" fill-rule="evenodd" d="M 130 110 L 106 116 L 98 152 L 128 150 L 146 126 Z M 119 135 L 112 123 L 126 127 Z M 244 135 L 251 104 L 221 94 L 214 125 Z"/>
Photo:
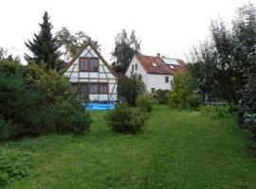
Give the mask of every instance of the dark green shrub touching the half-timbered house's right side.
<path id="1" fill-rule="evenodd" d="M 129 105 L 135 106 L 137 95 L 144 94 L 145 91 L 145 84 L 139 77 L 119 77 L 119 97 Z"/>

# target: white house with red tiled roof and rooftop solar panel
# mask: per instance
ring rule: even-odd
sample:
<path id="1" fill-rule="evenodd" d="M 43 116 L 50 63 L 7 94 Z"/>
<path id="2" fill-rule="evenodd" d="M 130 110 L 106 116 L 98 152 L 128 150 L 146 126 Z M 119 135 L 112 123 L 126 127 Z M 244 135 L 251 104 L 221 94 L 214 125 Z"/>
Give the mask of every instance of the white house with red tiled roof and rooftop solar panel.
<path id="1" fill-rule="evenodd" d="M 155 90 L 170 90 L 173 75 L 186 69 L 183 60 L 137 54 L 131 61 L 125 75 L 128 77 L 140 75 L 149 92 Z"/>

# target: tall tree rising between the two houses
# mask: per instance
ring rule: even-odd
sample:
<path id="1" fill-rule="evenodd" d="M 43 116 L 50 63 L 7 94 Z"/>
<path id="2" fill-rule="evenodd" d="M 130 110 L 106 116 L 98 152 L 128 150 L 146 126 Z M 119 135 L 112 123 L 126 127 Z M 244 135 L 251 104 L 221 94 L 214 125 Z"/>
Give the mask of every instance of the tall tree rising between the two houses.
<path id="1" fill-rule="evenodd" d="M 134 55 L 140 52 L 140 41 L 135 31 L 128 36 L 125 29 L 116 36 L 115 48 L 111 53 L 114 60 L 112 66 L 119 75 L 124 75 Z"/>

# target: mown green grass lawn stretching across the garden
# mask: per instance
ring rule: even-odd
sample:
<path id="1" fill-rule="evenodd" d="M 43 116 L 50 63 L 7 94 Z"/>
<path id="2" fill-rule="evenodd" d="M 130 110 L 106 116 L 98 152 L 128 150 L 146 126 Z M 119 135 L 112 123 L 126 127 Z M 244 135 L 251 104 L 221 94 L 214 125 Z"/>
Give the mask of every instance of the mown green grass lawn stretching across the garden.
<path id="1" fill-rule="evenodd" d="M 30 152 L 34 175 L 8 188 L 256 188 L 248 133 L 231 117 L 155 106 L 137 135 L 112 132 L 105 112 L 92 112 L 87 135 L 47 135 L 2 144 Z"/>

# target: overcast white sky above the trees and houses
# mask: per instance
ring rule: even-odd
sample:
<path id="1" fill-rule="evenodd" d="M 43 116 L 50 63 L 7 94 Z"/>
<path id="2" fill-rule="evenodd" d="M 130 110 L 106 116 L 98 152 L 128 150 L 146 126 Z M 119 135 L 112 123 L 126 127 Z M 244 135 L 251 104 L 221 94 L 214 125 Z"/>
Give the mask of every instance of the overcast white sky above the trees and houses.
<path id="1" fill-rule="evenodd" d="M 256 0 L 250 0 L 254 5 Z M 44 11 L 54 32 L 66 26 L 84 31 L 101 43 L 110 63 L 115 36 L 122 28 L 135 29 L 141 52 L 185 60 L 185 53 L 209 33 L 210 20 L 219 15 L 229 21 L 245 0 L 2 0 L 0 46 L 24 55 L 24 42 L 39 31 Z"/>

